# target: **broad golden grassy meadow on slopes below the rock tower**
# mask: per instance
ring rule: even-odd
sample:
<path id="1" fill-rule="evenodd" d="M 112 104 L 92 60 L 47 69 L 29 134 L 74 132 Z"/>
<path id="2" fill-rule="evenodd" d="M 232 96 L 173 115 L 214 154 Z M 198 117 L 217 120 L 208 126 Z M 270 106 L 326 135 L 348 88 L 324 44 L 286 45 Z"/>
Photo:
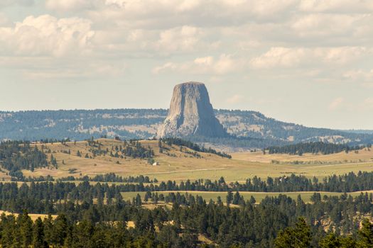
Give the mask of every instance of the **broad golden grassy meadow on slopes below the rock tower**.
<path id="1" fill-rule="evenodd" d="M 116 145 L 123 145 L 118 140 L 100 139 L 102 149 L 112 150 Z M 316 176 L 319 179 L 332 174 L 345 174 L 350 171 L 373 171 L 373 151 L 360 150 L 359 153 L 345 152 L 330 155 L 304 154 L 291 156 L 287 154 L 262 154 L 261 152 L 239 152 L 232 154 L 232 159 L 218 157 L 215 154 L 198 153 L 202 158 L 193 157 L 187 152 L 193 152 L 183 147 L 166 147 L 173 156 L 158 152 L 158 141 L 143 140 L 141 144 L 151 147 L 155 152 L 155 161 L 159 166 L 151 166 L 146 159 L 120 159 L 98 156 L 94 159 L 85 158 L 85 154 L 92 157 L 87 142 L 67 142 L 47 144 L 53 157 L 57 159 L 58 169 L 36 169 L 35 171 L 23 170 L 25 176 L 50 175 L 56 179 L 63 176 L 94 176 L 114 172 L 121 176 L 149 176 L 159 181 L 186 179 L 219 179 L 224 176 L 226 181 L 245 181 L 247 178 L 259 176 L 283 176 L 289 174 L 302 174 L 307 177 Z M 37 145 L 39 148 L 40 144 Z M 70 154 L 66 151 L 70 150 Z M 77 151 L 82 157 L 77 156 Z M 48 154 L 50 157 L 50 154 Z M 279 164 L 271 163 L 272 160 Z M 303 161 L 309 164 L 295 164 Z M 63 163 L 64 162 L 64 163 Z M 72 173 L 71 169 L 75 169 Z M 3 175 L 4 176 L 4 175 Z M 1 179 L 1 175 L 0 175 Z M 6 178 L 8 179 L 8 178 Z"/>

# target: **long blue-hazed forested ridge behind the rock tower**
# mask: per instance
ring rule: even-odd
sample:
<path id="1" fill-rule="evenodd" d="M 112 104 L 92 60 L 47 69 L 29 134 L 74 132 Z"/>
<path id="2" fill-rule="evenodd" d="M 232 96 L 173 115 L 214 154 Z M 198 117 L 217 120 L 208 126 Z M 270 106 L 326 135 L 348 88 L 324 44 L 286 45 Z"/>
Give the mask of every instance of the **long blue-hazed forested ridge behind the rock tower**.
<path id="1" fill-rule="evenodd" d="M 0 140 L 40 140 L 45 138 L 85 140 L 90 137 L 148 138 L 156 135 L 166 118 L 165 109 L 112 109 L 74 111 L 0 112 Z M 284 123 L 254 111 L 216 110 L 215 115 L 231 138 L 199 142 L 225 143 L 232 147 L 268 147 L 298 142 L 333 142 L 365 145 L 373 134 L 306 128 Z M 240 137 L 239 140 L 234 137 Z"/>

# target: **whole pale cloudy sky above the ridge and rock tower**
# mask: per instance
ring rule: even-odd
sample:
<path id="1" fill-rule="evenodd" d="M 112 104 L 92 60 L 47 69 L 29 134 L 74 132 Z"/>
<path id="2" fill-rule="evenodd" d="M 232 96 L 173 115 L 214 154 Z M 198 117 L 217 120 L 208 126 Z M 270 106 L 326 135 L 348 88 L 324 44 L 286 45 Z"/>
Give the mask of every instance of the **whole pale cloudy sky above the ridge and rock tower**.
<path id="1" fill-rule="evenodd" d="M 0 109 L 215 108 L 373 129 L 371 0 L 1 0 Z"/>

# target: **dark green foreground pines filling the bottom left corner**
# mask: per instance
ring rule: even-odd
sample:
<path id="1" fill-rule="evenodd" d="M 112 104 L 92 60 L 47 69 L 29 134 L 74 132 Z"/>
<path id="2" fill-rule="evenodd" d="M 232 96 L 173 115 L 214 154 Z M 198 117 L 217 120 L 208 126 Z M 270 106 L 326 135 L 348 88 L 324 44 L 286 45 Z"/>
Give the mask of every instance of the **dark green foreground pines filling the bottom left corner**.
<path id="1" fill-rule="evenodd" d="M 197 235 L 184 234 L 177 226 L 159 225 L 158 232 L 155 232 L 156 223 L 147 221 L 158 220 L 161 224 L 163 216 L 149 216 L 152 214 L 149 211 L 136 211 L 139 212 L 136 218 L 139 227 L 136 228 L 128 228 L 126 220 L 115 223 L 95 223 L 89 219 L 73 222 L 64 214 L 58 215 L 55 220 L 49 216 L 34 222 L 27 212 L 18 217 L 1 215 L 0 244 L 1 247 L 35 248 L 210 247 L 207 244 L 200 246 Z"/>

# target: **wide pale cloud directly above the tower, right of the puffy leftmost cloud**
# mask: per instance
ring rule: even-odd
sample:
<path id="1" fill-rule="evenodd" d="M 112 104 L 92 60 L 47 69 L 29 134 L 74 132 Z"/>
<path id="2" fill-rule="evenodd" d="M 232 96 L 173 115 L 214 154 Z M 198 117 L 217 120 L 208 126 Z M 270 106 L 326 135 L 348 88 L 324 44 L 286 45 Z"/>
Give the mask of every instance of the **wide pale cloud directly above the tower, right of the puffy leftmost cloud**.
<path id="1" fill-rule="evenodd" d="M 94 45 L 109 56 L 169 57 L 217 50 L 220 43 L 208 40 L 201 28 L 180 26 L 164 30 L 121 28 L 97 30 Z"/>

